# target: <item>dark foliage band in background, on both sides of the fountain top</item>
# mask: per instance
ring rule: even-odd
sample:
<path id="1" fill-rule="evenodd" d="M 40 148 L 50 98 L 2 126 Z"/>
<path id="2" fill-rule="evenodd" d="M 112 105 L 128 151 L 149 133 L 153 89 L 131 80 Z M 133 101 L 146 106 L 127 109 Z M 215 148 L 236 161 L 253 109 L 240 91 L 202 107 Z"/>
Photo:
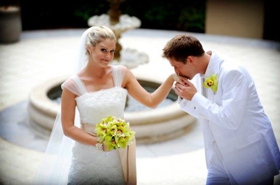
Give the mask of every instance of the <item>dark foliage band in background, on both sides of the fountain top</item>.
<path id="1" fill-rule="evenodd" d="M 141 20 L 141 28 L 204 32 L 206 0 L 124 0 L 120 4 L 122 14 Z M 104 0 L 22 1 L 23 29 L 61 27 L 88 27 L 88 19 L 109 10 Z"/>

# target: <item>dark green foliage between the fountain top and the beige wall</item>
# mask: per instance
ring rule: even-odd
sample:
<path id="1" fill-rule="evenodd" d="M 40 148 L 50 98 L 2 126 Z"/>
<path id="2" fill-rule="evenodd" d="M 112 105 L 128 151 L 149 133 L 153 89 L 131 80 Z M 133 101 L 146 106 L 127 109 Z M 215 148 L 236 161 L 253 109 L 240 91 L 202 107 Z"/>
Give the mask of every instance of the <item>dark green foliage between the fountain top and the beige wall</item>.
<path id="1" fill-rule="evenodd" d="M 139 18 L 142 28 L 205 31 L 206 0 L 127 0 L 121 4 L 121 10 Z"/>

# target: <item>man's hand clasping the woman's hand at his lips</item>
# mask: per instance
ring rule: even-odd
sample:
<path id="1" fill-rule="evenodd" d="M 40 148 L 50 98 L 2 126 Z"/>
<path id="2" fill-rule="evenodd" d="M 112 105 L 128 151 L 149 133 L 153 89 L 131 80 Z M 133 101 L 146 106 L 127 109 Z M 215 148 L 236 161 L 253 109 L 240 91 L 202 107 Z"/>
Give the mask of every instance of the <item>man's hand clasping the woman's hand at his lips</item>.
<path id="1" fill-rule="evenodd" d="M 185 98 L 186 100 L 191 100 L 195 93 L 197 93 L 197 88 L 189 82 L 187 79 L 183 79 L 182 82 L 184 85 L 176 83 L 175 84 L 175 92 L 181 98 Z"/>

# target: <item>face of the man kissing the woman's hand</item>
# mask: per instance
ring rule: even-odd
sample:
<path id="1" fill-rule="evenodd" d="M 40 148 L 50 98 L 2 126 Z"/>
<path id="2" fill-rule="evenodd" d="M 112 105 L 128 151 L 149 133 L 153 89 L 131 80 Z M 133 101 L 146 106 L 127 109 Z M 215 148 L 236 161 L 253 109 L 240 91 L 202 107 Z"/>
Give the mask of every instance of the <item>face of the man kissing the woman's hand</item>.
<path id="1" fill-rule="evenodd" d="M 189 80 L 191 80 L 194 77 L 195 74 L 193 75 L 193 70 L 189 61 L 187 61 L 186 64 L 184 64 L 183 62 L 178 62 L 170 58 L 169 63 L 174 67 L 174 70 L 177 73 L 177 75 L 185 77 Z"/>

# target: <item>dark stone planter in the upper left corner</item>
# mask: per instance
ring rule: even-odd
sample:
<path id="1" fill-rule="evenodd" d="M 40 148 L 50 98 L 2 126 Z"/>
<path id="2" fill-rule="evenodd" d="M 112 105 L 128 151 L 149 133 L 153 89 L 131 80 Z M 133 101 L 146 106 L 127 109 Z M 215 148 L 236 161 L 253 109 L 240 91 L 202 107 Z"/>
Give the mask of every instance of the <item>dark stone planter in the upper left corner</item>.
<path id="1" fill-rule="evenodd" d="M 0 42 L 17 42 L 21 31 L 20 8 L 15 6 L 0 7 Z"/>

